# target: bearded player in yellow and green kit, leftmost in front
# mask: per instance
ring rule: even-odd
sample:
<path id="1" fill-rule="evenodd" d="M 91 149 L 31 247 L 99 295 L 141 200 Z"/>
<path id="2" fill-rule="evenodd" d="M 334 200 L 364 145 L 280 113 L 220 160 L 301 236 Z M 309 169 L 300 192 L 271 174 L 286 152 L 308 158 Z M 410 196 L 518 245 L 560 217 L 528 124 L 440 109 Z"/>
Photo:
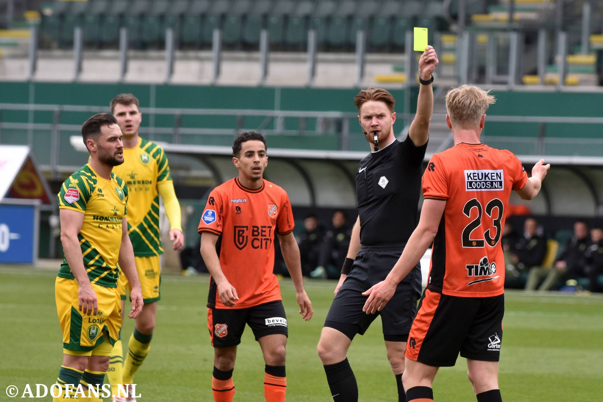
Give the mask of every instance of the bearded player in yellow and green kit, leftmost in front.
<path id="1" fill-rule="evenodd" d="M 112 172 L 124 162 L 122 133 L 115 118 L 99 113 L 81 128 L 90 162 L 75 171 L 58 193 L 65 260 L 55 281 L 58 319 L 63 330 L 62 392 L 53 401 L 73 400 L 70 384 L 103 385 L 109 356 L 122 324 L 117 291 L 123 271 L 132 285 L 132 310 L 142 311 L 142 292 L 128 237 L 128 187 Z M 123 276 L 123 275 L 121 275 Z M 86 394 L 80 401 L 101 401 Z"/>

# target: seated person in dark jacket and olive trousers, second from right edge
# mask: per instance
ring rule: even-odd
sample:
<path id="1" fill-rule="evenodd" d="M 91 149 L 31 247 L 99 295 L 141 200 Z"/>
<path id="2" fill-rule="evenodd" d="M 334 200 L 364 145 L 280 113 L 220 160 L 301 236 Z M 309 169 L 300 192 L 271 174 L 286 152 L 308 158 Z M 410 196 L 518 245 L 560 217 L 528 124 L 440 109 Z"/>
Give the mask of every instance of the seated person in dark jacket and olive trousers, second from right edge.
<path id="1" fill-rule="evenodd" d="M 538 287 L 539 291 L 549 291 L 558 281 L 564 278 L 582 276 L 587 264 L 586 249 L 591 245 L 589 226 L 584 221 L 573 224 L 573 236 L 567 242 L 563 253 L 555 261 L 553 268 L 532 268 L 529 271 L 526 290 L 533 291 L 542 278 L 545 281 Z"/>

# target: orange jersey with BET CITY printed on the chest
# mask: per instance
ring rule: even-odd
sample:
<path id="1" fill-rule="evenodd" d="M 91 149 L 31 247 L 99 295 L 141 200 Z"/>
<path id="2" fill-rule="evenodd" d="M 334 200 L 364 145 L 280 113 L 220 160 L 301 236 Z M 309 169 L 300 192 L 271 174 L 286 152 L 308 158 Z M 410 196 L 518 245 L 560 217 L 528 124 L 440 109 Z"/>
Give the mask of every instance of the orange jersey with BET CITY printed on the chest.
<path id="1" fill-rule="evenodd" d="M 221 235 L 220 266 L 235 287 L 235 307 L 222 304 L 218 286 L 209 282 L 207 307 L 245 309 L 281 300 L 274 270 L 274 235 L 291 233 L 291 204 L 285 190 L 262 179 L 262 187 L 248 189 L 233 178 L 212 190 L 199 222 L 199 233 Z"/>

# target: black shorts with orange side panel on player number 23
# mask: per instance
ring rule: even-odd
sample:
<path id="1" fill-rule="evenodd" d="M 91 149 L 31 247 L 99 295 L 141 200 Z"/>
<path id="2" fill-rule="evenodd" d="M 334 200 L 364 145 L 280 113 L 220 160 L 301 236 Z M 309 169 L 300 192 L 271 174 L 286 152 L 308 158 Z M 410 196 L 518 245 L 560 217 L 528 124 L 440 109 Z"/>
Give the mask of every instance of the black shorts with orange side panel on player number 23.
<path id="1" fill-rule="evenodd" d="M 497 362 L 505 295 L 447 296 L 425 289 L 406 344 L 406 357 L 436 367 L 462 357 Z"/>

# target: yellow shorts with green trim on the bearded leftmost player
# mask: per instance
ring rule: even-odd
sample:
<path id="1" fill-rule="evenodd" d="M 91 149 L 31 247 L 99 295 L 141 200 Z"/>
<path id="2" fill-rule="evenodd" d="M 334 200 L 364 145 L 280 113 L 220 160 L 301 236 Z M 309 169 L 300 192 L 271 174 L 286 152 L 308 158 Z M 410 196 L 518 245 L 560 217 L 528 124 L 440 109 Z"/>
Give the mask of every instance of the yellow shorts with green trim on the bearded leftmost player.
<path id="1" fill-rule="evenodd" d="M 79 308 L 78 283 L 75 279 L 58 278 L 54 283 L 54 297 L 57 303 L 58 321 L 63 330 L 65 353 L 90 356 L 110 356 L 104 354 L 107 341 L 115 344 L 121 328 L 121 300 L 116 287 L 92 284 L 98 303 L 96 315 L 84 315 Z M 105 344 L 106 345 L 106 344 Z M 95 351 L 99 348 L 98 351 Z M 69 353 L 69 352 L 74 353 Z M 98 352 L 98 353 L 95 353 Z"/>

